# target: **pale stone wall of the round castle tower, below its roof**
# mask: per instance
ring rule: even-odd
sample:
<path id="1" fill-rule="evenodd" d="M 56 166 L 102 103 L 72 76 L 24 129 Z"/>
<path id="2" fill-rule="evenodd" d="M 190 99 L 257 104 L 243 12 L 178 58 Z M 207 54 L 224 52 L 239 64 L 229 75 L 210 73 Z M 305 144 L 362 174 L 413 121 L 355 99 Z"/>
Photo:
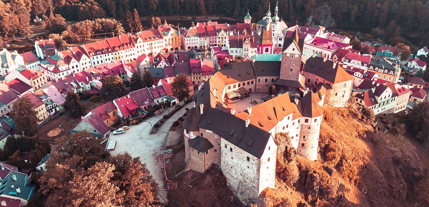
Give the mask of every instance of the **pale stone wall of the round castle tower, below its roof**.
<path id="1" fill-rule="evenodd" d="M 299 145 L 297 153 L 299 156 L 315 161 L 317 159 L 317 148 L 319 146 L 320 123 L 323 114 L 320 117 L 302 117 L 301 133 L 299 135 Z M 306 123 L 305 120 L 308 119 Z"/>

